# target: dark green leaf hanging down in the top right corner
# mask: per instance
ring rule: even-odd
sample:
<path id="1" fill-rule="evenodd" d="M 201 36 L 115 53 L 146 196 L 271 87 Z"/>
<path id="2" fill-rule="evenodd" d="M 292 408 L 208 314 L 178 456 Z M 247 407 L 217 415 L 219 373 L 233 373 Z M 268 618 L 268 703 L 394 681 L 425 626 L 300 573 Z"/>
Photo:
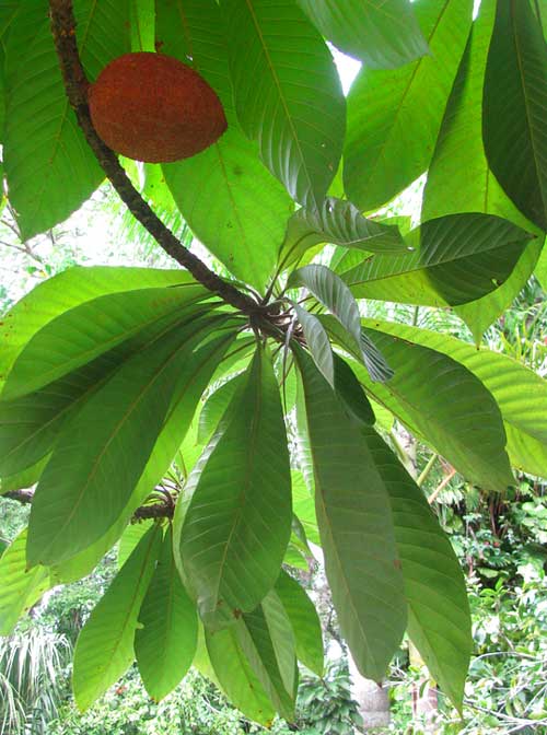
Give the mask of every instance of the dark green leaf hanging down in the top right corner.
<path id="1" fill-rule="evenodd" d="M 503 190 L 547 230 L 547 47 L 529 2 L 499 0 L 485 74 L 482 136 Z"/>

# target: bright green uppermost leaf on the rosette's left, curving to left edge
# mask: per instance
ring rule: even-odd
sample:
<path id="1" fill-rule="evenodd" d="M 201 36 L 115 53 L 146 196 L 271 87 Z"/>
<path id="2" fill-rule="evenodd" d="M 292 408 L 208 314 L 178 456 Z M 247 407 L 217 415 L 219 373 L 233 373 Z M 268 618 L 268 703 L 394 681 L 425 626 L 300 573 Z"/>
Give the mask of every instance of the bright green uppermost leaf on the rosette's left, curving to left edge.
<path id="1" fill-rule="evenodd" d="M 63 312 L 108 293 L 181 285 L 194 291 L 196 283 L 182 270 L 153 268 L 70 268 L 39 283 L 19 301 L 0 324 L 0 384 L 28 340 Z"/>

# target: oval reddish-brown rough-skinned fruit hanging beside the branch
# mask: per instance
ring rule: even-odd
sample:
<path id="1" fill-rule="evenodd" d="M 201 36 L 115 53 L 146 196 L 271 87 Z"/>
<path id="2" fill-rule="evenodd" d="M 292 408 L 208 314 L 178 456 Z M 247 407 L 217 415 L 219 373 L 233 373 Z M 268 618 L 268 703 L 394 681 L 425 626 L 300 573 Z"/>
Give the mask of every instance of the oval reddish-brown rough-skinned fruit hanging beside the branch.
<path id="1" fill-rule="evenodd" d="M 116 153 L 148 163 L 196 155 L 228 127 L 216 92 L 190 67 L 139 51 L 114 59 L 89 90 L 91 119 Z"/>

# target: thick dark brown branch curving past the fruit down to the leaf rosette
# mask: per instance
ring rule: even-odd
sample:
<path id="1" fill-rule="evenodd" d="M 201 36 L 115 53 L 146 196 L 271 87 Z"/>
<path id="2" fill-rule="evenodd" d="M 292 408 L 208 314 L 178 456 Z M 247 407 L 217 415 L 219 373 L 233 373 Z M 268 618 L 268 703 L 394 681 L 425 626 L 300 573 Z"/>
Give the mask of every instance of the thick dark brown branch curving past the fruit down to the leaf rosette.
<path id="1" fill-rule="evenodd" d="M 190 253 L 168 228 L 152 211 L 129 180 L 120 166 L 116 153 L 98 137 L 93 127 L 88 106 L 90 83 L 85 77 L 75 38 L 75 19 L 72 0 L 49 0 L 51 32 L 65 88 L 70 105 L 74 109 L 78 122 L 107 178 L 128 207 L 133 217 L 150 232 L 158 244 L 186 268 L 206 289 L 218 293 L 221 299 L 244 314 L 255 316 L 265 313 L 265 307 L 231 283 L 222 280 L 205 262 Z"/>

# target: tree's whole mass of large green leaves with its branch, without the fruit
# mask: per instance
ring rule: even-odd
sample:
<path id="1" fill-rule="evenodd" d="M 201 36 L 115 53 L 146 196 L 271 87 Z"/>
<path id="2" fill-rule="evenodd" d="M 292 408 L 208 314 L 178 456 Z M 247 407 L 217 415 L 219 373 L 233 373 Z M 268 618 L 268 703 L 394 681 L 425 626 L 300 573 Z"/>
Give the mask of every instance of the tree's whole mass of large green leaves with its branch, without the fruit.
<path id="1" fill-rule="evenodd" d="M 75 646 L 80 708 L 136 657 L 154 699 L 194 664 L 249 718 L 291 720 L 298 662 L 323 670 L 314 606 L 287 574 L 313 542 L 361 673 L 380 680 L 406 631 L 461 707 L 464 579 L 374 407 L 496 491 L 512 467 L 547 475 L 545 383 L 455 338 L 362 319 L 360 301 L 474 305 L 473 326 L 529 276 L 547 180 L 532 5 L 500 0 L 493 19 L 486 1 L 473 21 L 470 0 L 50 0 L 50 23 L 42 3 L 4 4 L 2 144 L 22 236 L 106 175 L 174 267 L 73 268 L 0 324 L 1 491 L 35 487 L 0 559 L 0 632 L 119 541 Z M 327 42 L 364 62 L 347 100 Z M 137 190 L 93 130 L 84 80 L 155 44 L 199 70 L 229 127 L 191 159 L 146 166 Z M 434 215 L 414 231 L 363 214 L 427 170 Z M 159 200 L 212 269 L 154 215 Z"/>

